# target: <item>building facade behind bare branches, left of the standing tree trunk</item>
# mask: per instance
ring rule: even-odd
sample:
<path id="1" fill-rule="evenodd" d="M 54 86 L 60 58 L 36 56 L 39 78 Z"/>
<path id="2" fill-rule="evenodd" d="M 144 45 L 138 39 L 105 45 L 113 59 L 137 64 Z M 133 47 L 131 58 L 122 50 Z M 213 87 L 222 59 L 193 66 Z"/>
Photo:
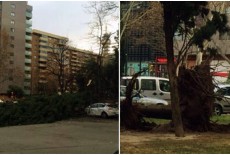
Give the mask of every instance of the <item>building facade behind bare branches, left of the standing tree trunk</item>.
<path id="1" fill-rule="evenodd" d="M 131 1 L 121 1 L 120 8 L 121 19 L 130 15 L 130 21 L 121 22 L 121 25 L 126 25 L 121 38 L 121 75 L 133 75 L 152 64 L 159 64 L 158 60 L 166 57 L 162 9 L 159 2 L 152 1 L 136 1 L 134 4 Z M 144 17 L 140 20 L 142 15 Z M 161 64 L 159 69 L 164 76 L 166 64 Z M 158 76 L 156 74 L 158 72 L 150 70 L 142 73 Z"/>

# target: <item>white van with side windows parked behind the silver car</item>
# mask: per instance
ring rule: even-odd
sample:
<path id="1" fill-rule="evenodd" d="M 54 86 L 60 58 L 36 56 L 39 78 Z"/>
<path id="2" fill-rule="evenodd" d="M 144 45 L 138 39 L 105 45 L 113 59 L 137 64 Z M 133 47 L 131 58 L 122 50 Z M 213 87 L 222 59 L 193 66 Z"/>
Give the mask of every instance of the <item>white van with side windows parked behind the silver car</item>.
<path id="1" fill-rule="evenodd" d="M 127 86 L 132 76 L 124 76 L 121 78 L 121 85 Z M 170 84 L 169 79 L 139 76 L 136 79 L 134 89 L 141 91 L 144 96 L 164 99 L 170 103 Z"/>

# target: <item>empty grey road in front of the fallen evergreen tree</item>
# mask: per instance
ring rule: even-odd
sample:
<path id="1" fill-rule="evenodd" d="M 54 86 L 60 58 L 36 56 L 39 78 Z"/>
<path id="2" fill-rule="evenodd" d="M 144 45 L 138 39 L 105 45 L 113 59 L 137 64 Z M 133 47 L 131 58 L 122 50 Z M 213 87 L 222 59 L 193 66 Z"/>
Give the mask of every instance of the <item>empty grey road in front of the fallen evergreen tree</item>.
<path id="1" fill-rule="evenodd" d="M 2 154 L 112 154 L 119 145 L 115 119 L 78 118 L 0 128 Z"/>

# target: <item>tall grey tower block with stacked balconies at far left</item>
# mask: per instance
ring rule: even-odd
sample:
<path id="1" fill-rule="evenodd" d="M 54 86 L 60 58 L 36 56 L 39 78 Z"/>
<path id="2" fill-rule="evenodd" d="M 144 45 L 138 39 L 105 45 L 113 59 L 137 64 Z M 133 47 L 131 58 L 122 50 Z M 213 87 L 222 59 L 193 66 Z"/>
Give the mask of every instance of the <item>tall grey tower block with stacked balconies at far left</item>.
<path id="1" fill-rule="evenodd" d="M 32 6 L 24 1 L 0 2 L 0 28 L 9 36 L 9 58 L 5 72 L 8 79 L 1 82 L 0 93 L 6 93 L 9 85 L 21 87 L 30 94 Z M 0 75 L 2 77 L 2 74 Z M 4 77 L 5 78 L 5 77 Z"/>

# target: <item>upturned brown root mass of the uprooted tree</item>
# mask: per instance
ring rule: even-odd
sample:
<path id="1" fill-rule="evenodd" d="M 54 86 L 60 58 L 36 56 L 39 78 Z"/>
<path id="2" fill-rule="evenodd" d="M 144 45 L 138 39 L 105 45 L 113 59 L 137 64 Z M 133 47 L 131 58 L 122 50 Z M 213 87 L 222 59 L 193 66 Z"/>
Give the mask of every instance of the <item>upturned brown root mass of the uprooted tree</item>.
<path id="1" fill-rule="evenodd" d="M 180 68 L 178 91 L 185 128 L 195 131 L 207 131 L 210 128 L 213 90 L 209 65 L 202 64 L 193 70 Z"/>

